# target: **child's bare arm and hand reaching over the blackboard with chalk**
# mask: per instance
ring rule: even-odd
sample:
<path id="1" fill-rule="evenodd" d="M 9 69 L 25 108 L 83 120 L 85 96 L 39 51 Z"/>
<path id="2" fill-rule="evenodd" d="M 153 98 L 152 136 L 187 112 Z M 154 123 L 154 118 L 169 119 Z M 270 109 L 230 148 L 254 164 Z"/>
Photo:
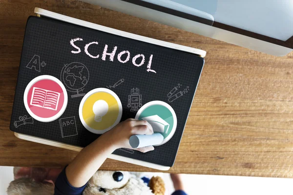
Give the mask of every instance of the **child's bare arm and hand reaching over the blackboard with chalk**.
<path id="1" fill-rule="evenodd" d="M 66 167 L 65 173 L 73 187 L 82 187 L 96 173 L 109 154 L 118 148 L 131 148 L 132 135 L 151 135 L 153 129 L 147 121 L 129 118 L 86 146 Z M 154 150 L 153 146 L 138 149 L 141 152 Z"/>

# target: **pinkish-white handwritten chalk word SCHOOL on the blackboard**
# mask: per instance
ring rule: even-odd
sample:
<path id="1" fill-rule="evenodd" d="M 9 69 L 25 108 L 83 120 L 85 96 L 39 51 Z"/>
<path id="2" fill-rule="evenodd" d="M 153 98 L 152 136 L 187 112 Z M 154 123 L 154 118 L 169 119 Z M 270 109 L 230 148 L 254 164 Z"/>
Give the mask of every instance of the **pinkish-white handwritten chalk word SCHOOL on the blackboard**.
<path id="1" fill-rule="evenodd" d="M 72 50 L 72 51 L 71 51 L 72 54 L 79 54 L 79 53 L 82 52 L 81 48 L 78 47 L 78 46 L 76 46 L 76 45 L 74 44 L 75 41 L 82 41 L 82 40 L 83 40 L 83 39 L 81 39 L 81 38 L 75 38 L 75 39 L 71 39 L 71 40 L 70 40 L 70 44 L 71 44 L 75 49 L 77 49 L 77 51 L 73 51 L 73 50 Z M 97 56 L 94 56 L 94 55 L 92 55 L 92 54 L 90 54 L 90 53 L 88 52 L 88 47 L 90 47 L 90 45 L 92 45 L 92 44 L 97 44 L 97 45 L 98 45 L 99 43 L 96 42 L 96 41 L 93 41 L 93 42 L 87 43 L 87 44 L 84 46 L 84 53 L 85 53 L 87 56 L 89 56 L 90 58 L 97 59 L 97 58 L 100 57 L 99 54 L 98 54 Z M 108 52 L 108 45 L 105 44 L 104 51 L 103 51 L 103 55 L 102 55 L 102 60 L 105 61 L 105 60 L 106 60 L 106 56 L 109 56 L 110 61 L 114 61 L 114 57 L 115 57 L 116 51 L 117 51 L 117 46 L 115 46 L 111 52 Z M 151 69 L 152 58 L 153 58 L 153 55 L 150 55 L 150 56 L 149 56 L 149 59 L 148 59 L 148 62 L 147 62 L 147 66 L 146 66 L 147 69 L 146 69 L 146 71 L 147 71 L 147 72 L 153 72 L 153 73 L 156 73 L 156 71 L 154 71 L 154 70 Z M 121 63 L 126 63 L 127 61 L 129 61 L 129 59 L 130 59 L 130 52 L 127 51 L 127 50 L 122 51 L 122 52 L 120 52 L 120 53 L 117 55 L 117 60 L 118 60 L 119 62 L 121 62 Z M 145 57 L 145 55 L 143 55 L 143 54 L 137 54 L 137 55 L 135 55 L 135 56 L 132 58 L 132 64 L 133 64 L 134 66 L 137 66 L 137 67 L 140 67 L 140 66 L 144 65 L 145 61 L 146 61 L 146 57 Z M 139 62 L 139 63 L 138 63 L 138 62 Z"/>

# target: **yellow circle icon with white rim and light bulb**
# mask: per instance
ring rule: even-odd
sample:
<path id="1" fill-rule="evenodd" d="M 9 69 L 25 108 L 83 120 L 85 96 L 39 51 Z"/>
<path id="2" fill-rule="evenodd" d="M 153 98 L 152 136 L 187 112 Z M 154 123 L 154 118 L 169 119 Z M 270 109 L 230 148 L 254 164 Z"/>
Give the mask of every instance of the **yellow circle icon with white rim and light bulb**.
<path id="1" fill-rule="evenodd" d="M 103 134 L 120 122 L 122 104 L 113 91 L 97 88 L 84 96 L 79 115 L 87 130 L 95 134 Z"/>

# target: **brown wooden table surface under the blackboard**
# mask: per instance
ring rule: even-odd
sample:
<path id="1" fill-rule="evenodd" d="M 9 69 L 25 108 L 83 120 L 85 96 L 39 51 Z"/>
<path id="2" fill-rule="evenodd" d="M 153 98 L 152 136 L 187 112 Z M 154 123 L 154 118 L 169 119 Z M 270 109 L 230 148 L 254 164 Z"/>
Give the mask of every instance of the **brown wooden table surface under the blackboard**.
<path id="1" fill-rule="evenodd" d="M 75 0 L 0 1 L 0 165 L 63 167 L 77 152 L 9 130 L 34 7 L 207 51 L 172 173 L 293 177 L 293 53 L 274 57 Z M 156 171 L 107 159 L 103 170 Z"/>

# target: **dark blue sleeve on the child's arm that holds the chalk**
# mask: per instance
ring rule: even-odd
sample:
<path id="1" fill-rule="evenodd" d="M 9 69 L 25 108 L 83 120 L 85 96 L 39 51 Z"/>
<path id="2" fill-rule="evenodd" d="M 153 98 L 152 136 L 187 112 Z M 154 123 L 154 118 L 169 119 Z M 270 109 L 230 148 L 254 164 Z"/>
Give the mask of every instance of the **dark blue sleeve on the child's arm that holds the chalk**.
<path id="1" fill-rule="evenodd" d="M 73 187 L 67 180 L 65 168 L 56 179 L 54 195 L 82 195 L 86 184 L 80 188 Z"/>

